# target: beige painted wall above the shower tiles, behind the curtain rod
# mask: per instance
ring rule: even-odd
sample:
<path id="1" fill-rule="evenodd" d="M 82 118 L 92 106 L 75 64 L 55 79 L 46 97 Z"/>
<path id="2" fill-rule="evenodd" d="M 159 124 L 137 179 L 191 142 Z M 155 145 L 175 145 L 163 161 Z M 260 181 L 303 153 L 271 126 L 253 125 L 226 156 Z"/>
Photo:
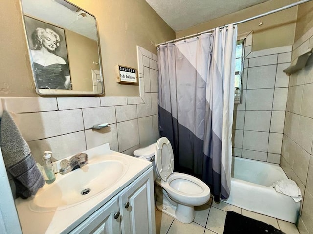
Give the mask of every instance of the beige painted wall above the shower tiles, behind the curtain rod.
<path id="1" fill-rule="evenodd" d="M 176 38 L 209 30 L 220 25 L 238 22 L 296 1 L 297 0 L 270 0 L 257 6 L 252 6 L 233 14 L 229 14 L 177 32 Z M 294 42 L 296 15 L 297 7 L 292 7 L 290 9 L 277 12 L 266 17 L 262 17 L 246 23 L 241 23 L 238 25 L 238 34 L 250 32 L 253 30 L 253 51 L 292 45 Z M 263 22 L 262 26 L 258 25 L 259 21 Z"/>

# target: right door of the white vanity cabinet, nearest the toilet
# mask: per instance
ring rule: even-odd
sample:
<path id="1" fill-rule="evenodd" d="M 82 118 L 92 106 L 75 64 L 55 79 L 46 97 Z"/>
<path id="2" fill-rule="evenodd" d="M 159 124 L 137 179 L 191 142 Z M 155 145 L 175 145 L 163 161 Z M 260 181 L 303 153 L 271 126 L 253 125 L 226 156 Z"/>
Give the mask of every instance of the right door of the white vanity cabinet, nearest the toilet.
<path id="1" fill-rule="evenodd" d="M 155 234 L 152 167 L 119 194 L 123 234 Z"/>

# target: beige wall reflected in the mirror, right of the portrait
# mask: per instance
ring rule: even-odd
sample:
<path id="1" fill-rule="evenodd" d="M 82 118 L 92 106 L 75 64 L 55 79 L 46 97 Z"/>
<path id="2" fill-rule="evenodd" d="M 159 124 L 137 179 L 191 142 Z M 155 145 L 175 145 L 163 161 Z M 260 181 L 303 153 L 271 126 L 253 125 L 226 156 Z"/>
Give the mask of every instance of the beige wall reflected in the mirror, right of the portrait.
<path id="1" fill-rule="evenodd" d="M 91 69 L 100 70 L 98 44 L 90 38 L 66 30 L 67 54 L 72 88 L 75 91 L 93 91 Z"/>

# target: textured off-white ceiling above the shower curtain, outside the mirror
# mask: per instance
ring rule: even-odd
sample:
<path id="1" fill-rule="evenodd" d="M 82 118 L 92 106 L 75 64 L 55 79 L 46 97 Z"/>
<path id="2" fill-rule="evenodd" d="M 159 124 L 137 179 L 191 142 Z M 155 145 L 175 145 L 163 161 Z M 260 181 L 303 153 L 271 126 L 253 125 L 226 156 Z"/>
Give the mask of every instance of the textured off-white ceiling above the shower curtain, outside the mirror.
<path id="1" fill-rule="evenodd" d="M 187 29 L 268 0 L 146 0 L 175 31 Z"/>

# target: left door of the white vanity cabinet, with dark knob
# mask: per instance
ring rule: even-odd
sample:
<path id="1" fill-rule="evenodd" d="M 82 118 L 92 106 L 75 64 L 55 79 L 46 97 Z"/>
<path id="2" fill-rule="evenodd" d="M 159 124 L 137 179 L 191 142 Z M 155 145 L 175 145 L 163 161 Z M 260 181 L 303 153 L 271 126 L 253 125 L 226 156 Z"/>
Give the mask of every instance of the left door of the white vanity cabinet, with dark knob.
<path id="1" fill-rule="evenodd" d="M 118 196 L 91 214 L 70 234 L 121 234 Z"/>

